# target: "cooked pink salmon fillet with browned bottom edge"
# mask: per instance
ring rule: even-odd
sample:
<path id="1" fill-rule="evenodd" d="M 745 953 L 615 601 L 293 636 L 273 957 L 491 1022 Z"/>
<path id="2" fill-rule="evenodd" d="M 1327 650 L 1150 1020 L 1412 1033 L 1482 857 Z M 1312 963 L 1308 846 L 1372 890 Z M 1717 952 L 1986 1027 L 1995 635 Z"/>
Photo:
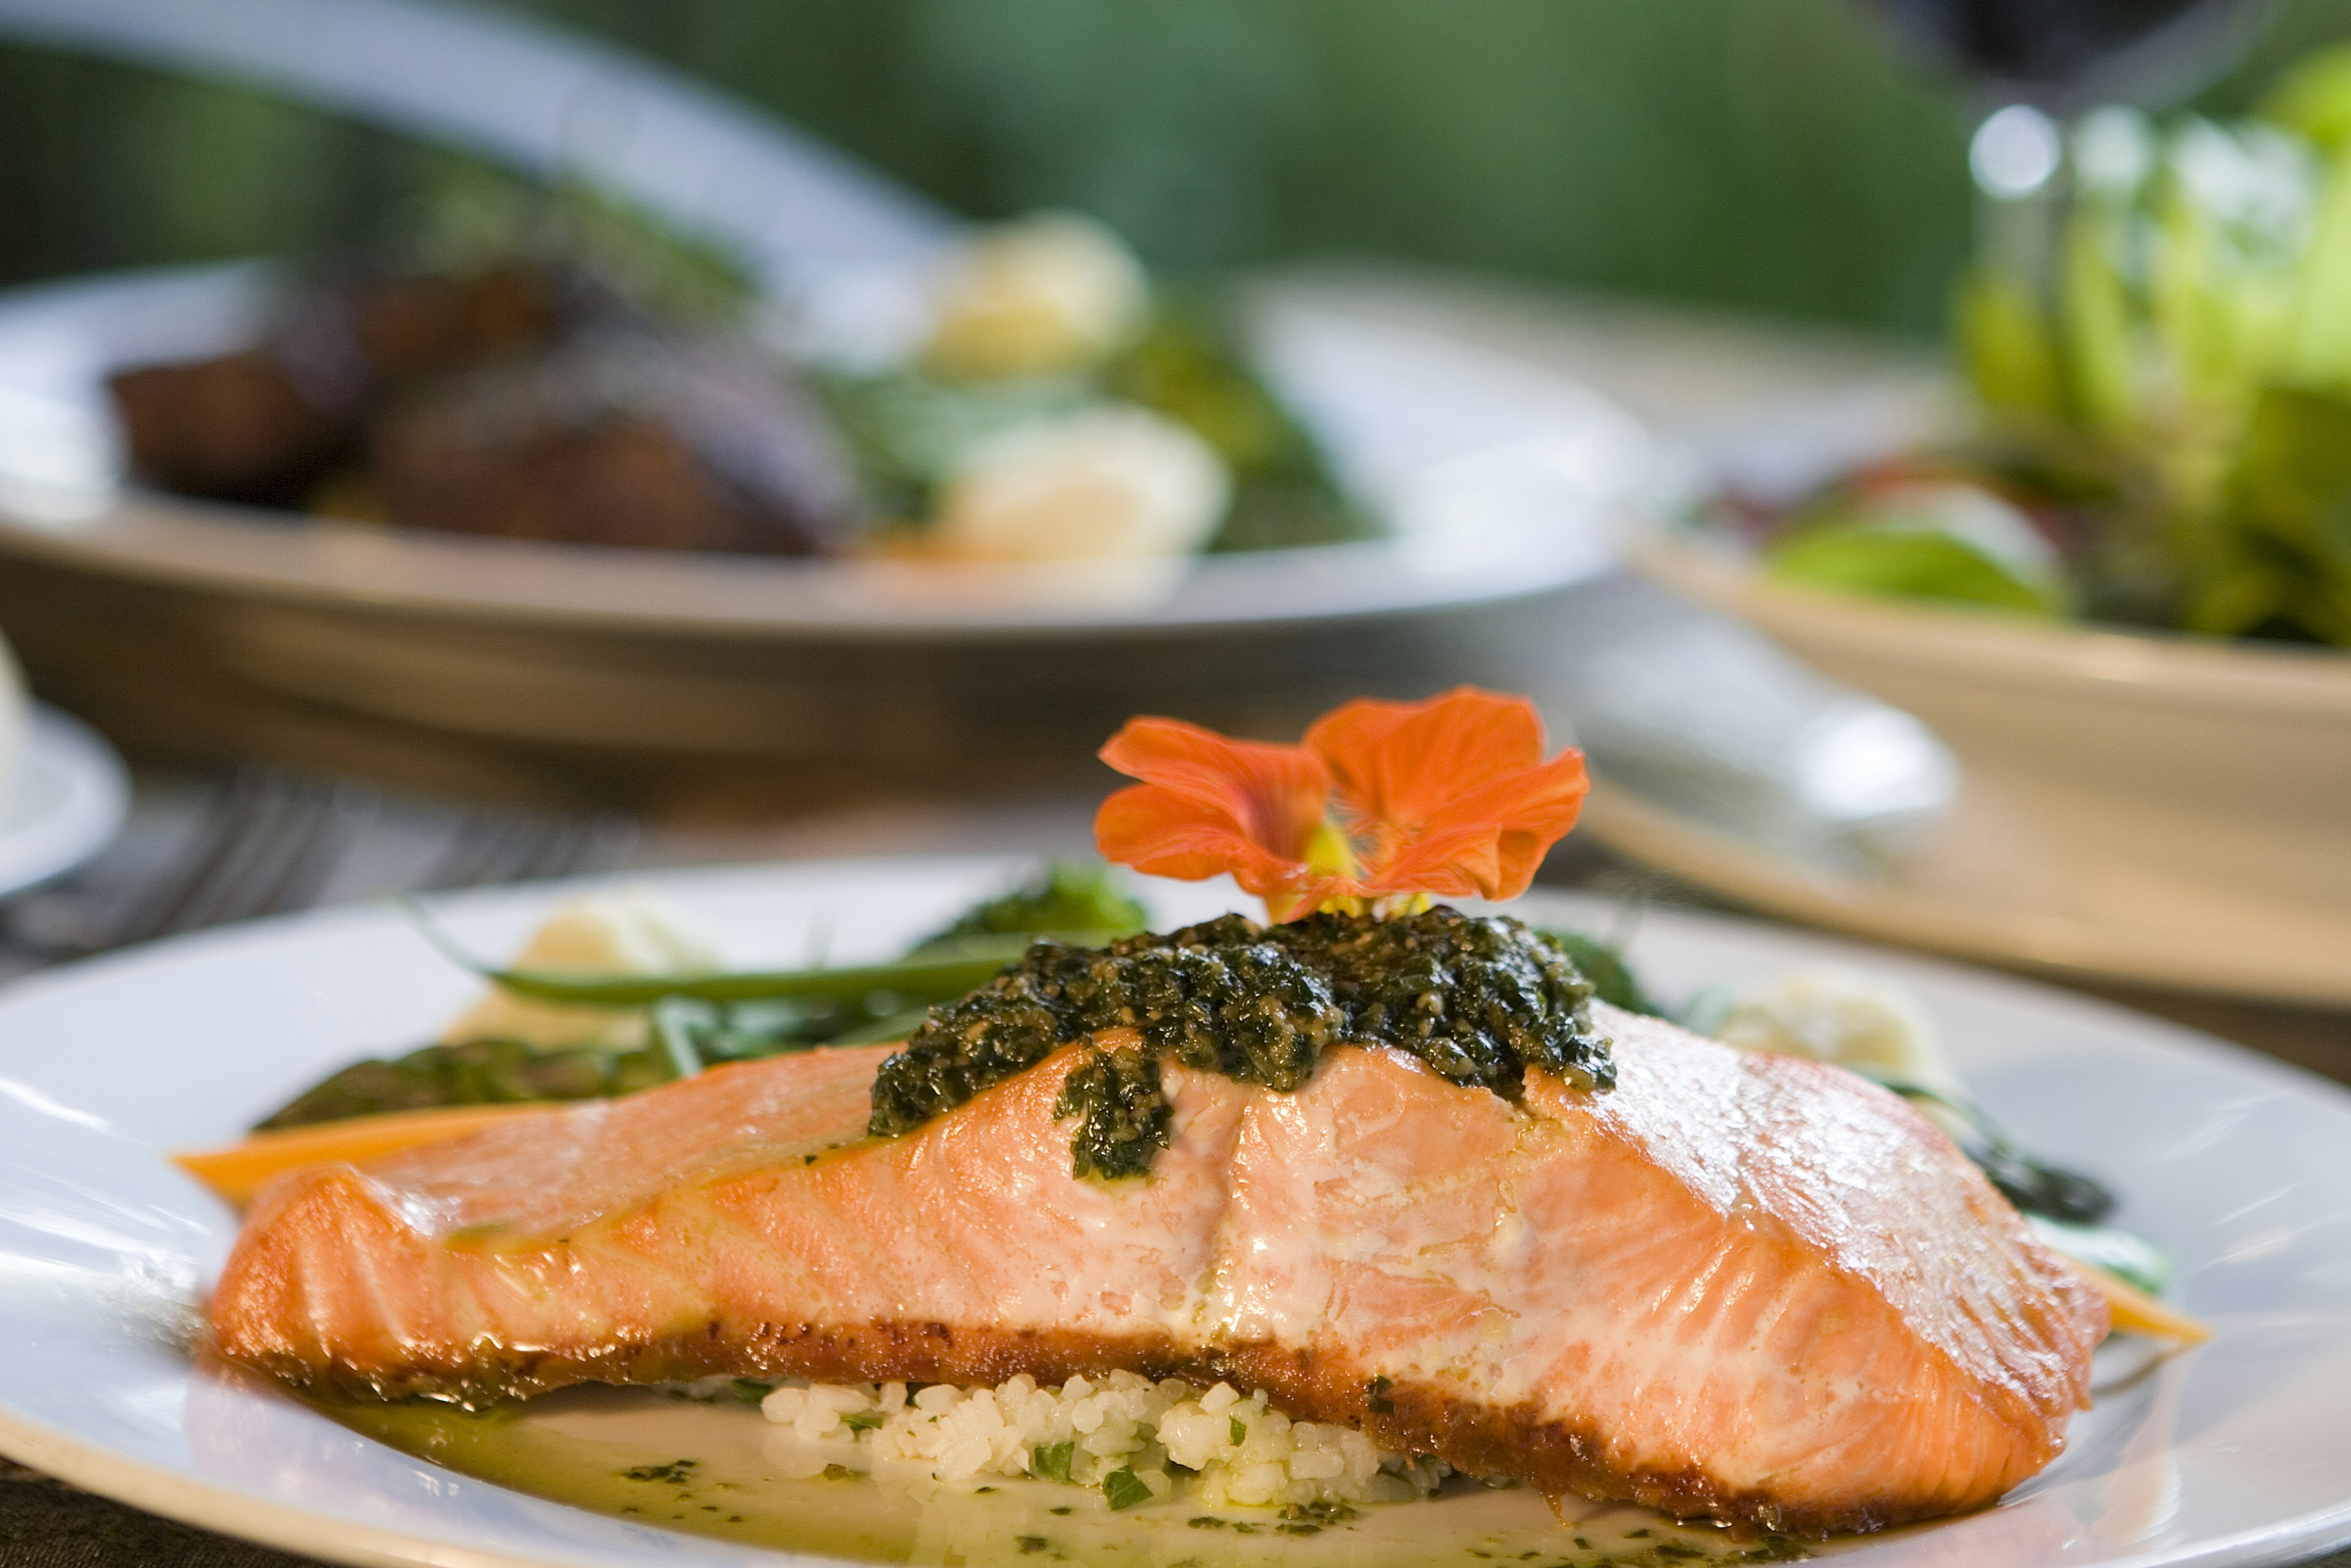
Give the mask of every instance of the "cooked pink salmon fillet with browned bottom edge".
<path id="1" fill-rule="evenodd" d="M 1067 1046 L 865 1135 L 886 1046 L 722 1067 L 270 1185 L 219 1349 L 484 1399 L 708 1373 L 1225 1378 L 1458 1469 L 1799 1533 L 1991 1502 L 2088 1403 L 2102 1298 L 1900 1098 L 1594 1006 L 1521 1103 L 1342 1046 L 1166 1065 L 1150 1178 L 1070 1173 Z M 1114 1041 L 1112 1041 L 1114 1044 Z"/>

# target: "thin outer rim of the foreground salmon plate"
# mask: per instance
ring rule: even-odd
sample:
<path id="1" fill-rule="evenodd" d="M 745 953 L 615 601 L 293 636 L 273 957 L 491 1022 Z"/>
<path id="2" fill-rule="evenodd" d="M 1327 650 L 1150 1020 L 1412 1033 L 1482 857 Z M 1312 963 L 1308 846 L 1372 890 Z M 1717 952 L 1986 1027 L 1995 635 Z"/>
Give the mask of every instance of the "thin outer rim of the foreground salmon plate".
<path id="1" fill-rule="evenodd" d="M 757 860 L 757 863 L 731 863 L 731 865 L 698 865 L 698 867 L 670 867 L 670 870 L 644 870 L 628 877 L 628 882 L 649 884 L 654 889 L 668 891 L 677 889 L 677 896 L 691 896 L 698 889 L 710 889 L 715 893 L 750 891 L 759 882 L 776 875 L 795 877 L 851 877 L 860 867 L 936 867 L 943 877 L 952 872 L 978 872 L 994 867 L 1025 867 L 1034 865 L 1037 856 L 1009 856 L 1009 853 L 910 853 L 910 856 L 842 856 L 842 858 L 783 858 L 783 860 Z M 529 884 L 501 884 L 491 889 L 468 889 L 463 893 L 440 896 L 428 900 L 435 912 L 449 912 L 451 907 L 463 910 L 463 905 L 498 905 L 498 903 L 543 903 L 576 893 L 592 886 L 609 886 L 611 875 L 595 877 L 564 877 Z M 682 886 L 679 886 L 682 884 Z M 1606 914 L 1625 907 L 1625 898 L 1592 893 L 1582 889 L 1533 889 L 1528 898 L 1519 905 L 1533 917 L 1542 917 L 1547 910 L 1578 912 L 1585 917 Z M 146 943 L 139 947 L 101 954 L 94 959 L 82 959 L 75 964 L 63 964 L 49 971 L 38 971 L 24 976 L 14 983 L 0 985 L 0 1006 L 35 992 L 47 992 L 52 987 L 78 987 L 85 983 L 108 983 L 113 971 L 136 971 L 158 957 L 186 957 L 200 954 L 209 945 L 221 947 L 249 947 L 256 940 L 268 943 L 280 936 L 292 936 L 306 926 L 320 922 L 329 924 L 355 924 L 355 926 L 379 926 L 393 922 L 395 917 L 369 905 L 339 905 L 327 910 L 306 910 L 292 914 L 277 914 L 256 922 L 240 922 L 233 926 L 219 926 L 209 931 L 186 933 L 176 938 L 165 938 L 158 943 Z M 2351 1086 L 2325 1079 L 2316 1072 L 2297 1067 L 2292 1063 L 2271 1058 L 2266 1053 L 2252 1051 L 2248 1046 L 2233 1044 L 2229 1039 L 2215 1037 L 2205 1030 L 2182 1025 L 2168 1018 L 2156 1018 L 2137 1009 L 2071 992 L 2045 980 L 2034 980 L 2027 976 L 1987 971 L 1972 964 L 1954 961 L 1937 954 L 1921 954 L 1914 950 L 1890 947 L 1874 940 L 1855 940 L 1850 936 L 1831 936 L 1820 931 L 1808 931 L 1801 926 L 1780 926 L 1766 919 L 1744 914 L 1723 914 L 1714 910 L 1688 910 L 1688 907 L 1662 907 L 1650 905 L 1641 914 L 1643 922 L 1665 922 L 1669 926 L 1683 926 L 1695 933 L 1716 936 L 1763 936 L 1777 945 L 1801 947 L 1820 952 L 1822 957 L 1864 957 L 1869 961 L 1888 964 L 1897 971 L 1909 971 L 1925 978 L 1937 978 L 1975 994 L 1989 994 L 1998 1001 L 2027 1004 L 2045 1013 L 2069 1013 L 2085 1023 L 2102 1023 L 2109 1027 L 2128 1027 L 2142 1048 L 2158 1053 L 2184 1053 L 2219 1058 L 2233 1072 L 2252 1077 L 2271 1088 L 2299 1095 L 2316 1095 L 2344 1112 L 2351 1112 Z M 122 1455 L 99 1441 L 78 1439 L 73 1434 L 52 1429 L 38 1420 L 24 1418 L 9 1406 L 0 1403 L 0 1448 L 14 1458 L 24 1458 L 31 1465 L 73 1483 L 85 1490 L 113 1497 L 127 1507 L 146 1509 L 165 1519 L 176 1519 L 195 1528 L 214 1530 L 237 1540 L 254 1540 L 284 1552 L 299 1552 L 308 1556 L 320 1556 L 339 1563 L 355 1563 L 364 1568 L 423 1568 L 428 1563 L 447 1563 L 456 1568 L 560 1568 L 564 1561 L 560 1556 L 515 1556 L 498 1549 L 470 1547 L 451 1540 L 435 1540 L 428 1535 L 409 1535 L 402 1530 L 386 1530 L 374 1523 L 353 1521 L 341 1514 L 310 1509 L 301 1505 L 280 1502 L 266 1495 L 247 1495 L 245 1490 L 230 1486 L 207 1483 L 195 1476 L 176 1474 L 167 1467 Z M 418 1460 L 418 1465 L 430 1465 Z M 442 1472 L 442 1467 L 433 1467 Z M 463 1472 L 442 1472 L 461 1476 Z M 2116 1559 L 2109 1568 L 2139 1568 L 2156 1566 L 2163 1568 L 2255 1568 L 2259 1563 L 2280 1563 L 2313 1552 L 2330 1552 L 2339 1544 L 2351 1542 L 2351 1488 L 2344 1495 L 2318 1509 L 2306 1509 L 2292 1519 L 2257 1528 L 2241 1530 L 2229 1537 L 2215 1537 L 2193 1549 L 2191 1556 L 2165 1554 L 2161 1549 L 2135 1554 L 2128 1559 Z M 1867 1542 L 1860 1542 L 1867 1547 Z M 839 1559 L 809 1556 L 802 1552 L 759 1549 L 762 1561 L 776 1561 L 778 1566 L 804 1566 L 804 1568 L 830 1568 Z"/>

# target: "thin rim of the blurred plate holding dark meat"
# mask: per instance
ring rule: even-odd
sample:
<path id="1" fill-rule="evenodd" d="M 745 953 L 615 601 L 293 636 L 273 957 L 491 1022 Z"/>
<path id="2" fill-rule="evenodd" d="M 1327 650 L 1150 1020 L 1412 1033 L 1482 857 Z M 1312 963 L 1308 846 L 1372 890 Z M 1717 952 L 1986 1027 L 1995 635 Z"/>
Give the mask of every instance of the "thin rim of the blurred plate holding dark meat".
<path id="1" fill-rule="evenodd" d="M 110 292 L 162 294 L 209 284 L 226 299 L 240 287 L 263 289 L 268 273 L 266 261 L 228 261 L 47 280 L 0 292 L 0 322 L 38 327 L 45 313 L 89 310 Z M 1312 301 L 1291 308 L 1345 320 L 1345 313 Z M 1253 303 L 1255 315 L 1265 310 L 1279 317 L 1284 306 Z M 1561 430 L 1599 433 L 1627 451 L 1648 449 L 1639 421 L 1580 381 L 1420 329 L 1364 320 L 1352 327 L 1368 339 L 1418 343 L 1448 360 L 1488 367 L 1498 381 L 1540 383 L 1561 409 L 1575 407 L 1575 421 L 1563 421 Z M 214 597 L 454 625 L 849 644 L 1166 637 L 1441 614 L 1587 581 L 1615 562 L 1639 465 L 1622 468 L 1608 484 L 1585 484 L 1587 494 L 1573 512 L 1528 515 L 1465 541 L 1371 538 L 1145 564 L 952 564 L 931 567 L 903 599 L 882 602 L 858 602 L 856 595 L 886 588 L 905 574 L 905 562 L 475 538 L 310 520 L 136 484 L 113 489 L 80 515 L 54 520 L 0 505 L 0 557 Z M 1507 548 L 1509 567 L 1493 564 L 1474 581 L 1444 583 L 1444 571 L 1432 574 L 1429 567 L 1441 567 L 1465 543 L 1486 552 Z M 795 604 L 766 611 L 745 604 L 745 574 L 757 585 L 788 585 Z M 1140 592 L 1136 578 L 1143 578 Z M 1281 604 L 1284 590 L 1300 597 L 1300 585 L 1314 588 L 1317 578 L 1319 602 L 1310 599 L 1305 609 Z M 541 581 L 545 585 L 536 585 Z M 524 583 L 520 595 L 517 583 Z M 661 592 L 647 585 L 661 585 Z M 1107 609 L 1100 585 L 1112 595 Z M 1114 597 L 1119 585 L 1128 595 L 1124 607 Z M 719 602 L 701 602 L 710 595 Z"/>

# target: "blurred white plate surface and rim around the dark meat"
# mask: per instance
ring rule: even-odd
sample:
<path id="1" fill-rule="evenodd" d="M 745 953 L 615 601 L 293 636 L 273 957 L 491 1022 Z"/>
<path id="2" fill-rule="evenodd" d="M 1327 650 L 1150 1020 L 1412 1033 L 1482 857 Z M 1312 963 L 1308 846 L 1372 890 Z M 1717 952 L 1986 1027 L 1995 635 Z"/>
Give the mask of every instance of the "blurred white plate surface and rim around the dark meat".
<path id="1" fill-rule="evenodd" d="M 0 552 L 214 597 L 449 623 L 790 639 L 966 639 L 1392 616 L 1545 592 L 1613 559 L 1641 428 L 1603 397 L 1441 339 L 1274 301 L 1270 378 L 1387 538 L 1178 562 L 943 567 L 515 543 L 118 489 L 103 376 L 252 341 L 256 266 L 0 299 Z"/>

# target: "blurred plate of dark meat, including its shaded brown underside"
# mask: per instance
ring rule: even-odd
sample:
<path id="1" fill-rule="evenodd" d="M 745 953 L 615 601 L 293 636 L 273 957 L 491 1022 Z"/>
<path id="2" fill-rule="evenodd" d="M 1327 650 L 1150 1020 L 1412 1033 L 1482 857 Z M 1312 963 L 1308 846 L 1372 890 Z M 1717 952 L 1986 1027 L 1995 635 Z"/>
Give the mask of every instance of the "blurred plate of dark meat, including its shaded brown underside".
<path id="1" fill-rule="evenodd" d="M 266 296 L 261 268 L 200 268 L 0 308 L 0 621 L 45 691 L 134 745 L 400 776 L 383 764 L 409 741 L 475 736 L 590 771 L 919 773 L 1084 759 L 1136 708 L 1295 726 L 1429 668 L 1507 684 L 1507 661 L 1444 651 L 1467 611 L 1603 571 L 1646 468 L 1641 428 L 1561 376 L 1267 287 L 1260 353 L 1389 538 L 938 569 L 418 536 L 115 489 L 103 369 L 237 341 Z M 355 762 L 360 719 L 379 729 Z"/>

